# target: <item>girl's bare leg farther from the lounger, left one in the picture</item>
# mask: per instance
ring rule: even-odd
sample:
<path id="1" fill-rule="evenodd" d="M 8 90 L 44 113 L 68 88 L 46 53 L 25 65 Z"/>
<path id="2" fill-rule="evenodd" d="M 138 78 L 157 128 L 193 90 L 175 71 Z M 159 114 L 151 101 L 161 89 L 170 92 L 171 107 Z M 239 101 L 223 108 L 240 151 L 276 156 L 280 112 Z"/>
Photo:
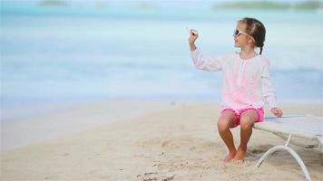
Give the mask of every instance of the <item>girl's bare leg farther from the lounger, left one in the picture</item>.
<path id="1" fill-rule="evenodd" d="M 234 147 L 232 133 L 230 127 L 237 121 L 235 114 L 230 110 L 225 110 L 221 113 L 218 121 L 218 130 L 220 137 L 223 139 L 225 145 L 229 149 L 229 155 L 224 158 L 224 162 L 229 162 L 236 155 L 236 148 Z"/>

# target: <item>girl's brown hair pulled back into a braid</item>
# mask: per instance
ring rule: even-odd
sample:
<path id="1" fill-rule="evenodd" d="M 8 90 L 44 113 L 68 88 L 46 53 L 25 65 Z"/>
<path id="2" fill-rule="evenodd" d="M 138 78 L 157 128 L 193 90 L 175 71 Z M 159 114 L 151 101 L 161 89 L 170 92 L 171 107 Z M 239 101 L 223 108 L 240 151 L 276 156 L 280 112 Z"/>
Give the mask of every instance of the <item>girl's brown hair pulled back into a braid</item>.
<path id="1" fill-rule="evenodd" d="M 260 48 L 259 54 L 261 54 L 266 36 L 265 26 L 259 20 L 250 17 L 245 17 L 238 23 L 247 24 L 246 33 L 255 39 L 255 45 Z"/>

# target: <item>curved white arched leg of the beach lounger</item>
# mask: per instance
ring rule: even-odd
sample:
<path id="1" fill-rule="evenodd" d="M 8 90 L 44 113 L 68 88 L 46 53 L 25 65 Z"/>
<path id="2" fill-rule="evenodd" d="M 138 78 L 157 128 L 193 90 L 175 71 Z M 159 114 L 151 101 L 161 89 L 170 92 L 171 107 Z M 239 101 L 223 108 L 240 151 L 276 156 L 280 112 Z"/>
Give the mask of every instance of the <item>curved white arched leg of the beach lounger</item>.
<path id="1" fill-rule="evenodd" d="M 308 174 L 308 169 L 307 169 L 307 167 L 304 165 L 304 162 L 302 161 L 302 159 L 299 157 L 299 155 L 292 149 L 292 148 L 289 148 L 289 147 L 287 147 L 287 146 L 284 146 L 284 145 L 279 145 L 279 146 L 275 146 L 275 147 L 273 147 L 273 148 L 270 148 L 266 153 L 264 153 L 263 154 L 263 156 L 262 157 L 260 157 L 259 158 L 259 161 L 258 161 L 258 163 L 257 163 L 257 165 L 256 165 L 256 167 L 260 167 L 260 165 L 262 164 L 262 162 L 271 154 L 271 153 L 273 153 L 273 152 L 275 152 L 275 151 L 277 151 L 277 150 L 279 150 L 279 149 L 283 149 L 283 150 L 287 150 L 289 153 L 290 153 L 290 155 L 292 155 L 297 161 L 298 161 L 298 163 L 299 163 L 299 167 L 301 167 L 302 168 L 302 170 L 303 170 L 303 173 L 304 173 L 304 175 L 305 175 L 305 177 L 306 177 L 306 179 L 308 180 L 308 181 L 311 181 L 311 179 L 310 179 L 310 176 L 309 176 L 309 174 Z"/>

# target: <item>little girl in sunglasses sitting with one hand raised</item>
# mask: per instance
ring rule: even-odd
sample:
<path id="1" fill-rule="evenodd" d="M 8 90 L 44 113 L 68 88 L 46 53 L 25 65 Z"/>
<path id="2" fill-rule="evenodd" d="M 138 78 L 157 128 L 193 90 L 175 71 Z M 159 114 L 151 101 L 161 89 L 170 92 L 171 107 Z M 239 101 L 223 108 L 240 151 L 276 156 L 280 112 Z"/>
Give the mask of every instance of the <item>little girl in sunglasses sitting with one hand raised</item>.
<path id="1" fill-rule="evenodd" d="M 254 18 L 241 19 L 233 32 L 234 46 L 240 47 L 240 52 L 216 58 L 204 58 L 195 45 L 199 34 L 196 30 L 190 33 L 191 58 L 195 66 L 204 71 L 223 71 L 222 110 L 218 130 L 229 149 L 224 162 L 243 162 L 253 123 L 264 119 L 264 100 L 275 116 L 282 115 L 277 105 L 276 91 L 269 79 L 269 60 L 261 55 L 265 26 Z M 255 52 L 256 47 L 260 48 L 259 54 Z M 236 149 L 230 129 L 238 125 L 240 146 Z"/>

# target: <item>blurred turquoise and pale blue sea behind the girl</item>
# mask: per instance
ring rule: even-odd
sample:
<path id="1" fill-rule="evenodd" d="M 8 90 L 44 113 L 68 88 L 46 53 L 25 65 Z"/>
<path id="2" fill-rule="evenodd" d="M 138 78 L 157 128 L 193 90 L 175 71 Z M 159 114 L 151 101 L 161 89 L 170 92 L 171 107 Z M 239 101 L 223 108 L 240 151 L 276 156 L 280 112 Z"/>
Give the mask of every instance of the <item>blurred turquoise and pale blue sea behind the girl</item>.
<path id="1" fill-rule="evenodd" d="M 15 107 L 92 100 L 220 101 L 221 73 L 198 71 L 188 28 L 205 55 L 236 52 L 245 16 L 267 28 L 263 54 L 279 102 L 322 103 L 322 12 L 219 10 L 135 1 L 106 6 L 1 4 L 2 119 Z"/>

